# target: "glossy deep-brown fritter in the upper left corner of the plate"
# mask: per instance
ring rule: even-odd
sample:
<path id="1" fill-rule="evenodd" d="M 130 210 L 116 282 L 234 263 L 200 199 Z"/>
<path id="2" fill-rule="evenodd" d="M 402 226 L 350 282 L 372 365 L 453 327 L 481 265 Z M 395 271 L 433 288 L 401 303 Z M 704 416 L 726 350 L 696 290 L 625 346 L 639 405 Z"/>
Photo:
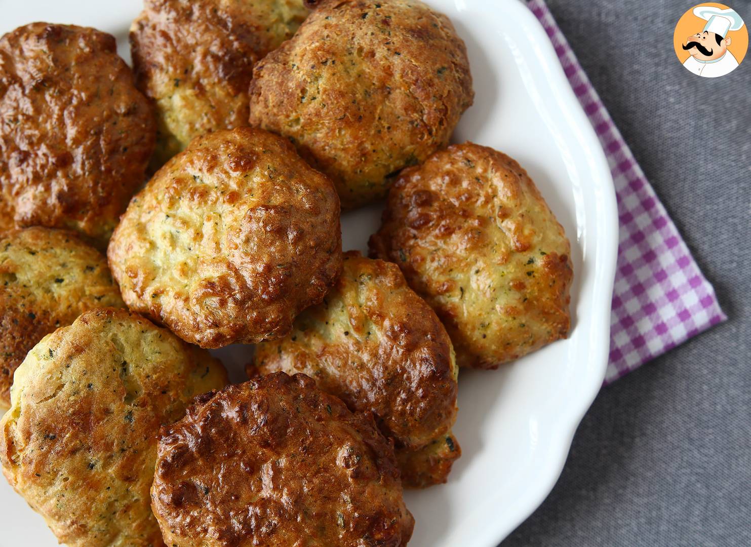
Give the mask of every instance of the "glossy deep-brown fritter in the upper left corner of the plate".
<path id="1" fill-rule="evenodd" d="M 155 122 L 115 38 L 32 23 L 0 39 L 0 224 L 105 246 L 144 180 Z"/>

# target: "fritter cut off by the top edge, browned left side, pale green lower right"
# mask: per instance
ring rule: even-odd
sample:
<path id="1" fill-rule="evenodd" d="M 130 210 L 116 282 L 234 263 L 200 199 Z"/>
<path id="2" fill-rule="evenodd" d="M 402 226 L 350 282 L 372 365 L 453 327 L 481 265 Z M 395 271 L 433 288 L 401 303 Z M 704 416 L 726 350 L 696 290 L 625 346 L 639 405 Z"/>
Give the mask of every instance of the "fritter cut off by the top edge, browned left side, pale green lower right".
<path id="1" fill-rule="evenodd" d="M 198 135 L 248 125 L 253 65 L 307 14 L 302 0 L 146 0 L 130 37 L 137 86 L 156 104 L 153 167 Z"/>

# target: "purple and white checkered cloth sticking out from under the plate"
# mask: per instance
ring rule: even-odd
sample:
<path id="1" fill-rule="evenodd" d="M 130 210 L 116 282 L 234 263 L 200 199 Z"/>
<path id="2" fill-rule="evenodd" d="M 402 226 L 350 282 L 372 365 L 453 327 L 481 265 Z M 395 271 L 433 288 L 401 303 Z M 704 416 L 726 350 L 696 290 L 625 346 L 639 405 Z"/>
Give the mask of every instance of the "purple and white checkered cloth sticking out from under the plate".
<path id="1" fill-rule="evenodd" d="M 553 42 L 615 183 L 620 234 L 608 384 L 727 318 L 547 6 L 528 5 Z"/>

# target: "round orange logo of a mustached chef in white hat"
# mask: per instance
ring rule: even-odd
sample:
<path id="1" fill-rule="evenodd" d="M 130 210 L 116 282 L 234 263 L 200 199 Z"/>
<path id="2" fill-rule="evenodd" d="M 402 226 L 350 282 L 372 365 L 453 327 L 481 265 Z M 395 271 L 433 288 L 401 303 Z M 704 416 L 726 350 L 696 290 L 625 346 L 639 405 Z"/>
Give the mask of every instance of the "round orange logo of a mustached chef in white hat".
<path id="1" fill-rule="evenodd" d="M 675 26 L 673 44 L 686 70 L 716 78 L 734 71 L 743 61 L 749 35 L 737 11 L 705 2 L 683 14 Z"/>

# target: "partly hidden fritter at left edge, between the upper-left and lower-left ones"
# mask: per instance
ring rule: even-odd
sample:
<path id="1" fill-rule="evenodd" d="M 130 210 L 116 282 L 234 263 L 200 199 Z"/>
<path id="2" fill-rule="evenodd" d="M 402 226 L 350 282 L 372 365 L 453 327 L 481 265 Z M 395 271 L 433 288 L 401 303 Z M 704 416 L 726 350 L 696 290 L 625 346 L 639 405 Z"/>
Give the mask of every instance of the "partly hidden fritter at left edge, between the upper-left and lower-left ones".
<path id="1" fill-rule="evenodd" d="M 0 234 L 0 409 L 11 404 L 14 370 L 56 328 L 95 307 L 125 307 L 107 259 L 68 231 Z"/>

